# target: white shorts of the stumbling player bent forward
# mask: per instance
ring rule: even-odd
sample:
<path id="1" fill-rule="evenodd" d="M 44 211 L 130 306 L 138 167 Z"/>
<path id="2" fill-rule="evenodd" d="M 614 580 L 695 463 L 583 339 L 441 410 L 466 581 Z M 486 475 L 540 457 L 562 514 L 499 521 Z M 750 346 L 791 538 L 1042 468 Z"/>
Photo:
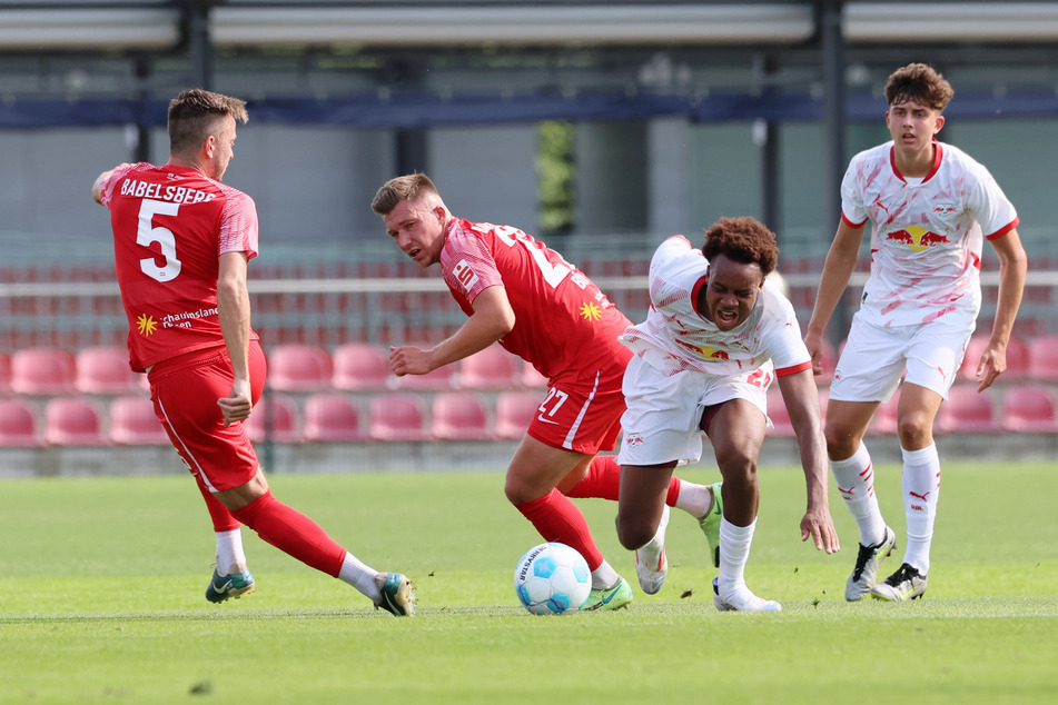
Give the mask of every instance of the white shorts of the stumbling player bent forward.
<path id="1" fill-rule="evenodd" d="M 705 407 L 745 399 L 768 418 L 768 387 L 774 367 L 765 363 L 759 370 L 741 375 L 708 375 L 696 370 L 669 374 L 633 357 L 624 373 L 624 403 L 621 417 L 624 437 L 619 465 L 663 465 L 698 463 L 702 458 L 699 424 Z M 768 420 L 769 427 L 771 421 Z"/>

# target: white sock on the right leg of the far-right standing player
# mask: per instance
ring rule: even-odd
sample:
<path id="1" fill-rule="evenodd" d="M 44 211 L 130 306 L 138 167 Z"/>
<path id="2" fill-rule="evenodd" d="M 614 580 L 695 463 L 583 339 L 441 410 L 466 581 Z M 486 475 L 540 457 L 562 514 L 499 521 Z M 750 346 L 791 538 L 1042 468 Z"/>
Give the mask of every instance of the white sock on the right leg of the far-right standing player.
<path id="1" fill-rule="evenodd" d="M 908 518 L 903 562 L 926 575 L 929 573 L 929 547 L 933 540 L 940 495 L 940 457 L 936 444 L 921 450 L 903 450 L 902 486 L 903 512 Z"/>

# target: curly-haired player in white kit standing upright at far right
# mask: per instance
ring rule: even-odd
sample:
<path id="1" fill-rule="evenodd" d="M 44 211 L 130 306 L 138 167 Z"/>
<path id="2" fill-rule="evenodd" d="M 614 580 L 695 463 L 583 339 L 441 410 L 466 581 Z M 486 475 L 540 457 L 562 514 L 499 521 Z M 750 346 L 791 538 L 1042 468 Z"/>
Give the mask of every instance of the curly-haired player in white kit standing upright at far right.
<path id="1" fill-rule="evenodd" d="M 988 170 L 937 141 L 953 91 L 924 63 L 894 71 L 886 85 L 892 140 L 852 158 L 841 183 L 841 220 L 827 255 L 804 337 L 820 360 L 827 322 L 856 267 L 871 221 L 871 274 L 838 360 L 827 408 L 827 451 L 838 489 L 856 518 L 860 548 L 846 599 L 906 600 L 926 593 L 940 493 L 933 419 L 962 363 L 981 308 L 981 249 L 999 258 L 991 337 L 977 365 L 978 391 L 1007 368 L 1007 344 L 1021 304 L 1026 256 L 1018 216 Z M 907 546 L 903 563 L 878 583 L 896 533 L 878 508 L 863 434 L 900 377 L 897 425 L 903 454 Z"/>

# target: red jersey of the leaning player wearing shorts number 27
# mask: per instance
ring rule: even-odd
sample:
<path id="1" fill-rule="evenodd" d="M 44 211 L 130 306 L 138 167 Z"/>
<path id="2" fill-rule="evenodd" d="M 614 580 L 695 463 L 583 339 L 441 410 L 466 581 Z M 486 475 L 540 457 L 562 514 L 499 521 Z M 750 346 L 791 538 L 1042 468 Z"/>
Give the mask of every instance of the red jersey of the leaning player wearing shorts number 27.
<path id="1" fill-rule="evenodd" d="M 463 311 L 503 286 L 514 328 L 500 340 L 548 379 L 570 370 L 624 371 L 617 336 L 629 319 L 582 271 L 517 228 L 453 218 L 441 252 L 445 284 Z M 614 354 L 617 351 L 617 355 Z"/>

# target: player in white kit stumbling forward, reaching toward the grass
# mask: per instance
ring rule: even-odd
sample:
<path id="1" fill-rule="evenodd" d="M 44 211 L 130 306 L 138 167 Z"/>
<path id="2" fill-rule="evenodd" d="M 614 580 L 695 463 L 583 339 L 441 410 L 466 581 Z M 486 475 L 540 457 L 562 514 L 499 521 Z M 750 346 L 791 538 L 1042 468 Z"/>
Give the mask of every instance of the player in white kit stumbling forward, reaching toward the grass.
<path id="1" fill-rule="evenodd" d="M 757 459 L 770 425 L 765 395 L 774 377 L 808 488 L 801 540 L 811 536 L 828 554 L 840 548 L 811 358 L 793 306 L 765 281 L 778 256 L 774 234 L 753 218 L 722 218 L 705 231 L 701 250 L 683 236 L 669 238 L 651 259 L 646 321 L 621 338 L 635 357 L 624 375 L 617 537 L 630 549 L 651 540 L 672 470 L 701 458 L 704 433 L 723 475 L 713 579 L 720 610 L 782 609 L 745 584 L 760 498 Z"/>

